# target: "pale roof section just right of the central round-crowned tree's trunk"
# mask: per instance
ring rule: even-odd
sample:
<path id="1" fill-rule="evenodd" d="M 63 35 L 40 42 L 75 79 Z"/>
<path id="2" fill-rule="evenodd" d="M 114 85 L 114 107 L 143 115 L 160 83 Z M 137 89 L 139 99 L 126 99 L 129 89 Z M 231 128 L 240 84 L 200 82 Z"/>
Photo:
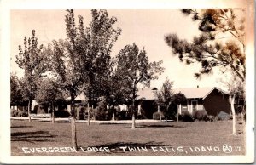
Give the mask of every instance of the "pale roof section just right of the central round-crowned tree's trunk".
<path id="1" fill-rule="evenodd" d="M 138 88 L 137 100 L 155 100 L 157 88 Z"/>

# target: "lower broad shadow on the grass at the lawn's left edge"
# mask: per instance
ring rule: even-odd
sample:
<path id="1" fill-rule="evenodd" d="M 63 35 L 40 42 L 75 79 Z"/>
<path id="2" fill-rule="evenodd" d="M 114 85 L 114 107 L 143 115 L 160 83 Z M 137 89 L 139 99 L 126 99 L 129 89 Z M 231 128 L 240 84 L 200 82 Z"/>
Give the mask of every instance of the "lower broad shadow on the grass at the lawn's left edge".
<path id="1" fill-rule="evenodd" d="M 11 133 L 11 141 L 26 141 L 30 143 L 53 141 L 56 135 L 49 134 L 49 131 L 15 132 Z"/>

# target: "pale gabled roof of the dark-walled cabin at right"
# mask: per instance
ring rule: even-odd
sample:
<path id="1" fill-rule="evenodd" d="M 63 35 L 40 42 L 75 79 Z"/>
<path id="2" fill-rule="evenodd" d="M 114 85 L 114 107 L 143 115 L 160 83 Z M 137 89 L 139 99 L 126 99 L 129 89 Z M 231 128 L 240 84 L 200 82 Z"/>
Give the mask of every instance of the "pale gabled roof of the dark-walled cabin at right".
<path id="1" fill-rule="evenodd" d="M 182 93 L 186 96 L 187 99 L 192 98 L 202 98 L 203 100 L 207 97 L 208 94 L 211 94 L 214 89 L 217 89 L 222 94 L 228 94 L 220 88 L 175 88 L 175 93 Z"/>

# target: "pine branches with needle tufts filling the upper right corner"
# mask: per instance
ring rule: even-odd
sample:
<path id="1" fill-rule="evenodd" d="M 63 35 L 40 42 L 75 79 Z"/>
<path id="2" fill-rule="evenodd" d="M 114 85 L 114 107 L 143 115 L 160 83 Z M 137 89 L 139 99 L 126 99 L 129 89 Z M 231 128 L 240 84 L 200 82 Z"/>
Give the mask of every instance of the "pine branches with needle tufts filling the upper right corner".
<path id="1" fill-rule="evenodd" d="M 221 71 L 231 71 L 245 83 L 245 11 L 243 9 L 182 9 L 183 14 L 193 15 L 199 21 L 201 35 L 194 37 L 192 43 L 179 39 L 177 34 L 166 35 L 165 40 L 187 65 L 201 63 L 201 70 L 195 73 L 200 78 L 212 73 L 218 67 Z M 230 93 L 231 98 L 234 97 Z M 236 119 L 233 118 L 233 122 Z"/>

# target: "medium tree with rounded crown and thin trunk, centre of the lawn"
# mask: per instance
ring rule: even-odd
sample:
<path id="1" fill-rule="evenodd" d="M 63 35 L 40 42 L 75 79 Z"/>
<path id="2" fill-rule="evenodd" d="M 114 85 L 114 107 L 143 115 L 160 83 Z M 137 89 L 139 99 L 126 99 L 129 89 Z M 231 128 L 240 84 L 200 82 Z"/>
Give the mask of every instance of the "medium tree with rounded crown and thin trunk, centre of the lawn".
<path id="1" fill-rule="evenodd" d="M 129 88 L 132 100 L 132 127 L 135 128 L 135 100 L 137 97 L 137 85 L 150 86 L 150 81 L 158 79 L 164 68 L 160 67 L 162 61 L 149 62 L 145 49 L 139 50 L 137 45 L 126 45 L 117 55 L 117 73 L 125 80 Z"/>

